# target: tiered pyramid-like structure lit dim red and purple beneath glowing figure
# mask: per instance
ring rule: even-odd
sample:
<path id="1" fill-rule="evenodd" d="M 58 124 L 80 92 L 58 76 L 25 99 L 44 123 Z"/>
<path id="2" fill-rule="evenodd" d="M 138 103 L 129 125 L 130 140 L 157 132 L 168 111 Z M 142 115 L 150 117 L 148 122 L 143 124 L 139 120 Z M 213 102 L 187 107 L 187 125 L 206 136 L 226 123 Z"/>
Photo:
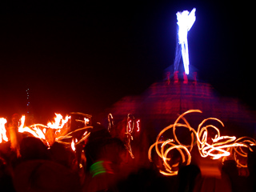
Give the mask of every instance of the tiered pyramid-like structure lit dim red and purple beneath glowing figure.
<path id="1" fill-rule="evenodd" d="M 142 129 L 158 133 L 186 110 L 202 110 L 202 114 L 187 117 L 194 128 L 202 119 L 212 117 L 220 119 L 225 125 L 223 130 L 231 135 L 251 137 L 255 132 L 255 114 L 246 105 L 237 98 L 222 97 L 207 82 L 197 81 L 193 71 L 186 75 L 167 70 L 164 81 L 154 82 L 141 95 L 122 98 L 106 113 L 118 121 L 134 114 L 141 118 Z"/>

